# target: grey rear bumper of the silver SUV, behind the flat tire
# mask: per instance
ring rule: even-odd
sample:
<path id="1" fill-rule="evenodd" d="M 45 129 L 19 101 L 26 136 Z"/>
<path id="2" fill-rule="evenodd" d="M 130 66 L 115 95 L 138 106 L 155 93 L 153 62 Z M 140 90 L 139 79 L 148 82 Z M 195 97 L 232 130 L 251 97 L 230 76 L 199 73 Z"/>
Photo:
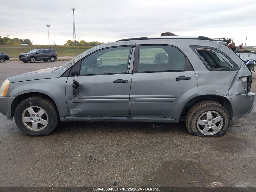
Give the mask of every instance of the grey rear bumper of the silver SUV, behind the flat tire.
<path id="1" fill-rule="evenodd" d="M 232 121 L 245 117 L 251 113 L 254 105 L 254 93 L 248 93 L 243 95 L 225 96 L 232 105 L 233 115 Z"/>

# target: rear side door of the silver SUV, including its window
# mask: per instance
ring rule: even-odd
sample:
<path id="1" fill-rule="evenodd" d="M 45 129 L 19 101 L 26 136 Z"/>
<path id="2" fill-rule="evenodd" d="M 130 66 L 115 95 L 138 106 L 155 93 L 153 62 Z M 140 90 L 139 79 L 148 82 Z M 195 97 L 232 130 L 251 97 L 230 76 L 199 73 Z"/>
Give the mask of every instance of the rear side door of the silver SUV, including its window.
<path id="1" fill-rule="evenodd" d="M 198 95 L 187 57 L 170 45 L 136 45 L 130 91 L 130 116 L 178 120 L 181 107 Z"/>

